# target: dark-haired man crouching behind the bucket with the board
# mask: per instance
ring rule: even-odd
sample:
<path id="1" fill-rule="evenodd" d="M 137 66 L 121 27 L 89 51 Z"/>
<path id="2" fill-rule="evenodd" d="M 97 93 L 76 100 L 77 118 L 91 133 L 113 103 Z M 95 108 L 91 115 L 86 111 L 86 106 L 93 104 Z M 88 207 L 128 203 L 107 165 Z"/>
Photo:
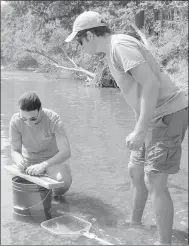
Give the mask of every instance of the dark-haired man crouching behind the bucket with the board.
<path id="1" fill-rule="evenodd" d="M 19 101 L 19 112 L 10 121 L 9 137 L 13 162 L 29 175 L 42 175 L 64 181 L 54 196 L 64 195 L 72 183 L 66 162 L 71 157 L 69 140 L 60 116 L 42 108 L 34 92 L 26 92 Z"/>

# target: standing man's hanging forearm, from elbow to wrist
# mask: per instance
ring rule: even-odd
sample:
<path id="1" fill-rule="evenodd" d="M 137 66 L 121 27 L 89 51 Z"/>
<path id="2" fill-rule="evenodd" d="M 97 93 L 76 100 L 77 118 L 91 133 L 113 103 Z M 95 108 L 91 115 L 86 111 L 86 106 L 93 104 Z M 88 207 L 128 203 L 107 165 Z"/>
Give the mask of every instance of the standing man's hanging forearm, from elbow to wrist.
<path id="1" fill-rule="evenodd" d="M 136 132 L 147 132 L 148 126 L 153 118 L 157 99 L 159 95 L 159 86 L 152 84 L 144 86 L 140 106 L 140 116 L 135 126 Z"/>

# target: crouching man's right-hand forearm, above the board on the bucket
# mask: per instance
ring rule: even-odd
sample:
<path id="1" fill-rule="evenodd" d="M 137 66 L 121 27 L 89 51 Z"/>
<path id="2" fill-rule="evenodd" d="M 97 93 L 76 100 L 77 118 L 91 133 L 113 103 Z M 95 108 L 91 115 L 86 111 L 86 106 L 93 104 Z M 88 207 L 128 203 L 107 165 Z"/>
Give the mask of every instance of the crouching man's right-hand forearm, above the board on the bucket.
<path id="1" fill-rule="evenodd" d="M 70 151 L 59 151 L 56 155 L 51 157 L 50 159 L 44 161 L 46 168 L 52 167 L 57 164 L 61 164 L 68 160 L 71 157 Z"/>

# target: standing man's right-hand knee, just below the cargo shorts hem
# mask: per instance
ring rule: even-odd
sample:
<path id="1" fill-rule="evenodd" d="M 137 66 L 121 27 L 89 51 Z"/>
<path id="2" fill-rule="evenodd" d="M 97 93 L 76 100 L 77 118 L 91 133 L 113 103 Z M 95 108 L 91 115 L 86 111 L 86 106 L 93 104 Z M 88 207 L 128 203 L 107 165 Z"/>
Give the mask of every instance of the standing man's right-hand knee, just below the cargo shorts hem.
<path id="1" fill-rule="evenodd" d="M 145 174 L 144 182 L 148 191 L 157 196 L 167 191 L 167 178 L 165 173 L 149 173 Z"/>

